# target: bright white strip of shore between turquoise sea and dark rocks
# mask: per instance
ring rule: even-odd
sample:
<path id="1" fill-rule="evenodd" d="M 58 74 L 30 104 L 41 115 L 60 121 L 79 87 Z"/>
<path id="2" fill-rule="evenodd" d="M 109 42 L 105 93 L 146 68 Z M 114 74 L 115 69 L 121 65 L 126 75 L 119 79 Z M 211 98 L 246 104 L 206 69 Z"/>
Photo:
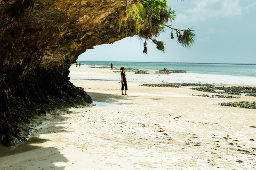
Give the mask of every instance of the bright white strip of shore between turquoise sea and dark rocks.
<path id="1" fill-rule="evenodd" d="M 105 80 L 105 81 L 120 81 L 119 72 L 114 73 L 110 69 L 91 68 L 88 66 L 70 67 L 70 80 Z M 90 72 L 90 73 L 89 73 Z M 233 85 L 250 85 L 255 86 L 256 79 L 254 77 L 240 77 L 235 75 L 220 75 L 220 74 L 199 74 L 199 73 L 170 73 L 155 74 L 134 74 L 126 73 L 127 81 L 129 82 L 167 82 L 167 83 L 210 83 L 210 84 L 233 84 Z"/>

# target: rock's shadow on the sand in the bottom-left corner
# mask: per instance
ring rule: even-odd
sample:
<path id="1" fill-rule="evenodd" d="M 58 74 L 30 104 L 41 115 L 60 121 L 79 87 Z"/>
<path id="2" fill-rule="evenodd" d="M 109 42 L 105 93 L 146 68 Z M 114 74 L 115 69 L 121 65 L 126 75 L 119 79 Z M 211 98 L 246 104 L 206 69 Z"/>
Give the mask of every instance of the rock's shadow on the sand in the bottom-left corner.
<path id="1" fill-rule="evenodd" d="M 44 132 L 48 133 L 63 133 L 67 132 L 63 124 L 67 118 L 61 115 L 52 115 L 47 118 L 50 123 L 44 126 Z M 56 126 L 58 125 L 58 126 Z M 51 127 L 51 128 L 50 128 Z M 56 166 L 58 163 L 67 163 L 68 159 L 60 154 L 58 148 L 42 147 L 42 143 L 49 140 L 30 137 L 27 141 L 22 142 L 20 145 L 6 147 L 0 145 L 0 169 L 65 169 L 65 166 Z"/>

